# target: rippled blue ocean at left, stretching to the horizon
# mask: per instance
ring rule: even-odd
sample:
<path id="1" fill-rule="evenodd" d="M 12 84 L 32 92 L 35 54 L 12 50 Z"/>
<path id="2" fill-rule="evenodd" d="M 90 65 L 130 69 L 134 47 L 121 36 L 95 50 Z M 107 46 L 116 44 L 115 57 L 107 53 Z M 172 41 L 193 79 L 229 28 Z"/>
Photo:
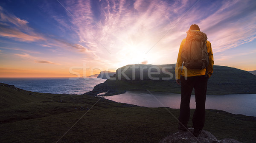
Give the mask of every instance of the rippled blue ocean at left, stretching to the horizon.
<path id="1" fill-rule="evenodd" d="M 23 90 L 56 94 L 84 94 L 104 81 L 106 79 L 99 78 L 80 78 L 76 80 L 69 78 L 0 78 L 0 82 L 14 85 Z"/>

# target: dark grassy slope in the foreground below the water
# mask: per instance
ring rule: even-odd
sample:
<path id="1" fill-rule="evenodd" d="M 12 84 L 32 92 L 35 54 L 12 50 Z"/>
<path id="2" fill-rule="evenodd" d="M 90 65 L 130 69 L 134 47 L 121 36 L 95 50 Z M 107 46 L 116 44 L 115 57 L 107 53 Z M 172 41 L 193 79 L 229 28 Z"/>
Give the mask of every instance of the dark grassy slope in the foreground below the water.
<path id="1" fill-rule="evenodd" d="M 87 107 L 100 99 L 88 95 L 33 93 L 1 85 L 0 101 L 3 98 L 6 101 L 0 108 L 1 143 L 54 143 L 87 112 Z M 178 109 L 167 109 L 178 117 Z M 253 117 L 207 110 L 204 129 L 218 139 L 230 137 L 253 143 L 255 127 Z M 60 143 L 156 143 L 175 132 L 177 121 L 165 108 L 132 107 L 101 98 Z"/>

